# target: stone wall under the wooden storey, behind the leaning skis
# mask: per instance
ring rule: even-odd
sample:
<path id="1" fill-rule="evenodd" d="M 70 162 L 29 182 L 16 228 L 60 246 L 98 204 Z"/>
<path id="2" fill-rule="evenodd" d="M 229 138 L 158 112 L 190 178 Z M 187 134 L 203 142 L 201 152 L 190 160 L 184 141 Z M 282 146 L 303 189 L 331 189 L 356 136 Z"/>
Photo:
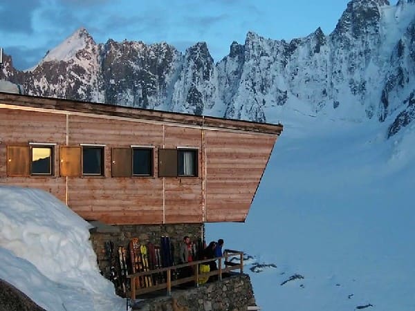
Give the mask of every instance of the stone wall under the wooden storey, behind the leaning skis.
<path id="1" fill-rule="evenodd" d="M 95 225 L 94 223 L 91 223 Z M 202 230 L 203 227 L 203 230 Z M 131 238 L 138 238 L 140 244 L 149 242 L 160 245 L 161 236 L 169 236 L 174 245 L 175 258 L 178 258 L 178 247 L 183 241 L 183 236 L 190 236 L 192 241 L 201 238 L 204 232 L 203 224 L 174 224 L 174 225 L 122 225 L 108 226 L 98 224 L 95 229 L 91 229 L 91 242 L 95 254 L 97 254 L 100 270 L 109 278 L 109 260 L 105 254 L 105 242 L 112 241 L 114 247 L 127 247 Z M 178 261 L 176 261 L 178 262 Z"/>

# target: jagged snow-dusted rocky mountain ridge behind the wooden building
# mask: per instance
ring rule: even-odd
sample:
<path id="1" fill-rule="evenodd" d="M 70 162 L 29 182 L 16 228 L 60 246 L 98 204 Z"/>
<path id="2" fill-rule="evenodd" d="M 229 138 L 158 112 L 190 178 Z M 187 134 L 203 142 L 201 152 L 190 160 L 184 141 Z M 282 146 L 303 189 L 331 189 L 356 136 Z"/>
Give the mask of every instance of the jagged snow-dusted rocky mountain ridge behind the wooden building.
<path id="1" fill-rule="evenodd" d="M 111 39 L 84 29 L 32 70 L 0 78 L 26 93 L 219 117 L 275 122 L 282 109 L 347 120 L 391 118 L 415 91 L 415 0 L 352 0 L 335 30 L 290 42 L 248 32 L 214 64 L 198 43 L 183 55 L 168 44 Z"/>

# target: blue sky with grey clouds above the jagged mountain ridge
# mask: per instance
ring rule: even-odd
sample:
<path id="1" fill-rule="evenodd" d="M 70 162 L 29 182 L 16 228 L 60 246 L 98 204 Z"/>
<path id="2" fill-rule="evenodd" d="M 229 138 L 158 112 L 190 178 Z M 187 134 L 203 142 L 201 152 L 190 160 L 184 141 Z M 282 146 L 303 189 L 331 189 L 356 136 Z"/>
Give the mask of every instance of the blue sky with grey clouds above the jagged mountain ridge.
<path id="1" fill-rule="evenodd" d="M 96 43 L 165 41 L 185 51 L 205 41 L 215 62 L 254 31 L 289 41 L 321 27 L 331 33 L 348 0 L 5 0 L 0 47 L 17 69 L 37 64 L 80 27 Z"/>

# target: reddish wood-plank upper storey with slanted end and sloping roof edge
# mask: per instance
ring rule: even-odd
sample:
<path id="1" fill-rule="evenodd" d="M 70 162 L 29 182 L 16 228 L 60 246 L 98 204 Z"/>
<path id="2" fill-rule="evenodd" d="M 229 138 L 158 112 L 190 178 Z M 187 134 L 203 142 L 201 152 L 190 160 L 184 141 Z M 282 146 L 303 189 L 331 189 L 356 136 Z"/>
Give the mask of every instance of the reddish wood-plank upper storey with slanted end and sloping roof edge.
<path id="1" fill-rule="evenodd" d="M 0 93 L 0 129 L 0 185 L 49 191 L 86 220 L 138 225 L 244 221 L 282 125 Z M 34 173 L 39 147 L 52 152 L 47 176 Z M 93 148 L 102 172 L 89 175 Z M 147 176 L 130 173 L 135 148 L 151 155 Z M 196 167 L 183 176 L 174 157 L 187 151 Z"/>

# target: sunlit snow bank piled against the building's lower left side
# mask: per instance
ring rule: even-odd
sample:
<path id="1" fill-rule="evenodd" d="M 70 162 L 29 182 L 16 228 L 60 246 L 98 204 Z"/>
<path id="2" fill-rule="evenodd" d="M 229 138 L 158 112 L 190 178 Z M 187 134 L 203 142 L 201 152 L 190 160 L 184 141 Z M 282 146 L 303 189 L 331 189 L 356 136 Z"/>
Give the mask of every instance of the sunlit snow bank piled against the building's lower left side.
<path id="1" fill-rule="evenodd" d="M 44 191 L 0 186 L 0 279 L 48 311 L 124 310 L 100 275 L 89 227 Z"/>

